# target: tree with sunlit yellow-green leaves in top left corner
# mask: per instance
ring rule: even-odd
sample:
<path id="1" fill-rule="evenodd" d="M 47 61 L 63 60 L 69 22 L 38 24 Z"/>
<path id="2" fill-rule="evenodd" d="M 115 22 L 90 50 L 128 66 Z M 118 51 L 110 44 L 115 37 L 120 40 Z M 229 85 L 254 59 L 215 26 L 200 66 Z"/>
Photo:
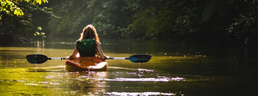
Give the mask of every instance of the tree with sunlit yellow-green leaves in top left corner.
<path id="1" fill-rule="evenodd" d="M 35 3 L 47 3 L 47 0 L 1 0 L 0 6 L 0 31 L 1 33 L 20 33 L 30 31 L 33 10 L 47 11 L 39 8 Z"/>

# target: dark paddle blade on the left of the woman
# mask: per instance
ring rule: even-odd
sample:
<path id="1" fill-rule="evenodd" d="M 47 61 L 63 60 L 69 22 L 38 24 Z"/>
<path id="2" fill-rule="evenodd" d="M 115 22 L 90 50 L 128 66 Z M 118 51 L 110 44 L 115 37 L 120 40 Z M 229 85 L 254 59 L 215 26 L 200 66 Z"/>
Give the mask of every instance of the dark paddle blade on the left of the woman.
<path id="1" fill-rule="evenodd" d="M 48 60 L 48 57 L 43 54 L 27 55 L 26 59 L 31 64 L 41 64 Z"/>

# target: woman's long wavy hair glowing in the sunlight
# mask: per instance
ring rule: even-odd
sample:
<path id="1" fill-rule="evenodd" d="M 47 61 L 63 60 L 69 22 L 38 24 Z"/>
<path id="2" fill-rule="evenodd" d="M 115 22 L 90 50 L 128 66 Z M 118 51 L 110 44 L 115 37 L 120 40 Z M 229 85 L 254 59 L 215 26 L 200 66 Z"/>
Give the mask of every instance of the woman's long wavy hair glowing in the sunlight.
<path id="1" fill-rule="evenodd" d="M 81 37 L 78 40 L 82 39 L 95 39 L 97 42 L 99 42 L 99 35 L 97 34 L 95 27 L 91 24 L 84 27 L 81 33 Z"/>

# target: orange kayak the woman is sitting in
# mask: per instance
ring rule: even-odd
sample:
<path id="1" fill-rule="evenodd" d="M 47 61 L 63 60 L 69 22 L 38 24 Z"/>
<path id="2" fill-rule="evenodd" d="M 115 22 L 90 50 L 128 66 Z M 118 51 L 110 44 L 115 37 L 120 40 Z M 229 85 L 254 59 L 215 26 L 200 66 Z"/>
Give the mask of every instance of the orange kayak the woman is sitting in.
<path id="1" fill-rule="evenodd" d="M 65 65 L 67 69 L 84 71 L 103 71 L 108 68 L 108 63 L 99 57 L 76 57 L 65 61 Z"/>

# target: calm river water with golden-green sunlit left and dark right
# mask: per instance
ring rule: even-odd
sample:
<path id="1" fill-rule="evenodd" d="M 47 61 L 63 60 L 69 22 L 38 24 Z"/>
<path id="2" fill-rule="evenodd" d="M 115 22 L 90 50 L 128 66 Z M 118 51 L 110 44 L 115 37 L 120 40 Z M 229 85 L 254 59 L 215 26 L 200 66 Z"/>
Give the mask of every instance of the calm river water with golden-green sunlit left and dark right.
<path id="1" fill-rule="evenodd" d="M 101 72 L 69 71 L 65 60 L 30 64 L 29 54 L 69 56 L 76 38 L 0 47 L 0 95 L 257 95 L 257 50 L 153 40 L 102 40 L 105 55 L 151 54 L 147 63 L 108 60 Z"/>

